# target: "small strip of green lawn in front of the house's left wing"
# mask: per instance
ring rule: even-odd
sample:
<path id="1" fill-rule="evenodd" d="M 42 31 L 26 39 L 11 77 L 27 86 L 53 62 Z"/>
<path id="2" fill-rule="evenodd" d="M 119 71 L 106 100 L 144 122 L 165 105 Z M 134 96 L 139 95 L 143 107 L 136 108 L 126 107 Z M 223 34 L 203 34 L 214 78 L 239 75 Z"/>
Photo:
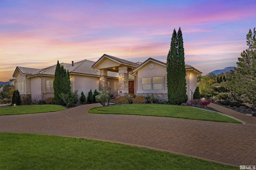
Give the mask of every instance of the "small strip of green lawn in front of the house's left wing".
<path id="1" fill-rule="evenodd" d="M 28 113 L 44 113 L 51 111 L 65 110 L 66 108 L 58 105 L 21 105 L 11 107 L 0 107 L 0 115 L 18 115 Z"/>

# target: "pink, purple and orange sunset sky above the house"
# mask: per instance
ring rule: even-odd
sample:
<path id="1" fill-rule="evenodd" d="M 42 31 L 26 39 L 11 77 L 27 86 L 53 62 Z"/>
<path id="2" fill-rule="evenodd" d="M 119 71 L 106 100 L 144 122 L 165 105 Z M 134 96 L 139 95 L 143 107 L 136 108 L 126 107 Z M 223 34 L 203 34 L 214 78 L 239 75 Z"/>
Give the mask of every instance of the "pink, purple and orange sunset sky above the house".
<path id="1" fill-rule="evenodd" d="M 236 66 L 256 27 L 256 0 L 0 0 L 0 81 L 16 66 L 97 61 L 166 62 L 174 28 L 185 63 L 202 75 Z"/>

